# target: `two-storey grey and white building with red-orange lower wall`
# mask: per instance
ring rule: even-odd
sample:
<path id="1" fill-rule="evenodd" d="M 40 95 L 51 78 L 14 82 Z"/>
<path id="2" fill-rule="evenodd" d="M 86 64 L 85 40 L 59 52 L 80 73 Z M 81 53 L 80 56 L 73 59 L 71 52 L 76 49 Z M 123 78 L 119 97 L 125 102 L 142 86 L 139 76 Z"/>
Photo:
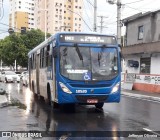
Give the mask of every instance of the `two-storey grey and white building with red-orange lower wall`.
<path id="1" fill-rule="evenodd" d="M 160 10 L 123 20 L 126 26 L 124 70 L 133 89 L 160 93 Z"/>

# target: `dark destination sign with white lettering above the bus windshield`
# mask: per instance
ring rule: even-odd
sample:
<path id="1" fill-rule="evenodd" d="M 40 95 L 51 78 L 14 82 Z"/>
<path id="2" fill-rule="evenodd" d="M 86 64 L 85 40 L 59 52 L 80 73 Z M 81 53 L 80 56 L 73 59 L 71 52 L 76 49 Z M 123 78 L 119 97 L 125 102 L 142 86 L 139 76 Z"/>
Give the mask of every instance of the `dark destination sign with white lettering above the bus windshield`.
<path id="1" fill-rule="evenodd" d="M 98 35 L 60 35 L 60 42 L 65 43 L 97 43 L 97 44 L 116 44 L 116 39 L 113 36 L 98 36 Z"/>

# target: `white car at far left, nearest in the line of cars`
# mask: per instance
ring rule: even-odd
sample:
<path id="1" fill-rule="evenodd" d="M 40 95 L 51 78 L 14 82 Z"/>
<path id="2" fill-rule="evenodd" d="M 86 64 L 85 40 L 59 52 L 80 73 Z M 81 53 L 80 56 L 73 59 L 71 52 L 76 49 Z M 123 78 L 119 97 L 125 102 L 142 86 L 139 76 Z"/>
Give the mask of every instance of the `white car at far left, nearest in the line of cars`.
<path id="1" fill-rule="evenodd" d="M 14 71 L 3 71 L 1 76 L 2 82 L 20 82 L 20 77 Z"/>

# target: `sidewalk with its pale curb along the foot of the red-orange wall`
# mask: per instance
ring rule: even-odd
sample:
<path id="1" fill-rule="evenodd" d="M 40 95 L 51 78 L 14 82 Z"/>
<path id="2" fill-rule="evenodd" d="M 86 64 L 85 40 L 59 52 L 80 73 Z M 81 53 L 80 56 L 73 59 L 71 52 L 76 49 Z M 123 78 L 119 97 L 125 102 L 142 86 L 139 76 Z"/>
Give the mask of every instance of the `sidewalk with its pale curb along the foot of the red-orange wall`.
<path id="1" fill-rule="evenodd" d="M 160 93 L 158 94 L 137 90 L 127 90 L 122 88 L 122 95 L 160 102 Z"/>

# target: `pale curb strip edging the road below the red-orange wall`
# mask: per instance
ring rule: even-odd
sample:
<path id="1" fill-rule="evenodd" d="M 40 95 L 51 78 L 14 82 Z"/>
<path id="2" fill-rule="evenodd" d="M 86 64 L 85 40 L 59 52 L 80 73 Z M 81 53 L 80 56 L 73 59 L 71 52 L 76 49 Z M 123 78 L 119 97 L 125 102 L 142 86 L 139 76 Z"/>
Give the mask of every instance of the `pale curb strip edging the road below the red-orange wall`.
<path id="1" fill-rule="evenodd" d="M 136 98 L 139 98 L 139 99 L 147 99 L 147 100 L 153 100 L 153 101 L 160 102 L 160 98 L 159 97 L 153 97 L 153 96 L 147 96 L 147 95 L 139 95 L 139 94 L 124 92 L 124 91 L 122 91 L 122 95 L 130 96 L 130 97 L 136 97 Z"/>

